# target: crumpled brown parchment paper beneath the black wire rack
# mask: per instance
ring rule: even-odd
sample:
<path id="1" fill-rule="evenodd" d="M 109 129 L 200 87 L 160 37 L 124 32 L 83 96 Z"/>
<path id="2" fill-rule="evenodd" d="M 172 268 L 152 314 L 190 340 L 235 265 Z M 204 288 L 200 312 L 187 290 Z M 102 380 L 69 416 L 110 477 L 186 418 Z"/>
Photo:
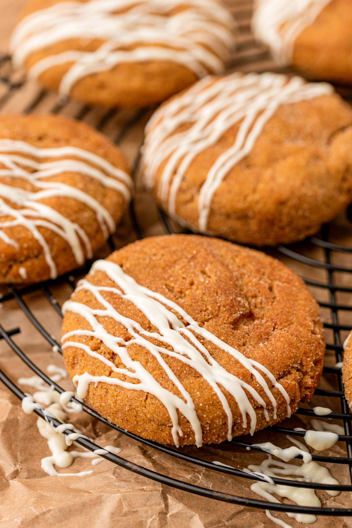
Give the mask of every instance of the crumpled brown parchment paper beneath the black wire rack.
<path id="1" fill-rule="evenodd" d="M 24 3 L 25 0 L 0 0 L 2 13 L 0 16 L 0 50 L 6 50 L 8 35 Z M 227 4 L 239 21 L 239 49 L 234 57 L 234 65 L 239 64 L 240 69 L 244 71 L 273 69 L 268 54 L 254 43 L 249 33 L 251 1 L 229 0 Z M 18 73 L 11 72 L 8 64 L 4 64 L 0 68 L 0 77 L 8 74 L 11 74 L 14 80 L 21 78 Z M 10 93 L 8 88 L 0 82 L 0 101 L 2 102 L 0 112 L 3 114 L 30 111 L 33 102 L 35 102 L 34 110 L 38 114 L 52 111 L 57 98 L 53 93 L 44 93 L 34 82 L 26 83 L 14 93 Z M 117 140 L 123 136 L 119 145 L 129 157 L 131 165 L 134 164 L 148 116 L 138 118 L 137 115 L 135 123 L 131 125 L 129 120 L 136 115 L 133 111 L 121 110 L 108 113 L 98 108 L 84 108 L 75 101 L 69 101 L 62 107 L 60 113 L 71 117 L 81 115 L 83 120 L 92 126 L 102 125 L 101 131 L 111 139 Z M 137 182 L 136 214 L 142 234 L 146 236 L 163 233 L 155 204 L 140 183 L 140 174 Z M 175 229 L 178 228 L 175 227 Z M 350 224 L 344 214 L 331 224 L 330 229 L 332 239 L 340 243 L 352 244 Z M 121 247 L 135 238 L 134 228 L 126 213 L 115 236 L 116 245 Z M 305 244 L 299 244 L 298 248 L 307 256 L 323 257 L 322 249 L 312 250 Z M 272 253 L 277 256 L 275 251 Z M 99 257 L 107 254 L 108 248 L 104 248 Z M 338 253 L 337 256 L 340 265 L 351 266 L 349 254 Z M 332 258 L 335 258 L 335 255 Z M 286 261 L 294 271 L 305 277 L 321 281 L 327 278 L 324 270 L 311 269 L 292 259 L 285 259 L 282 255 L 280 259 Z M 348 274 L 336 274 L 336 282 L 350 287 L 352 278 Z M 6 293 L 6 288 L 0 293 Z M 52 293 L 62 304 L 70 296 L 71 289 L 65 283 L 59 283 L 52 288 Z M 321 301 L 329 300 L 327 291 L 312 288 L 312 293 Z M 61 319 L 50 307 L 49 301 L 43 294 L 41 292 L 27 294 L 24 300 L 47 331 L 59 340 Z M 351 299 L 347 294 L 338 293 L 337 302 L 350 304 Z M 341 324 L 352 326 L 351 313 L 341 312 L 339 315 Z M 328 309 L 322 310 L 322 317 L 327 322 L 331 322 Z M 7 330 L 17 326 L 21 328 L 21 333 L 14 337 L 14 341 L 43 371 L 46 371 L 48 364 L 63 366 L 61 356 L 51 350 L 41 334 L 28 322 L 15 300 L 6 301 L 0 308 L 0 322 Z M 327 331 L 326 337 L 331 343 L 333 337 L 331 331 Z M 327 353 L 326 364 L 330 366 L 335 364 L 335 355 L 332 352 Z M 0 366 L 15 382 L 22 376 L 33 375 L 32 371 L 15 356 L 4 341 L 0 341 Z M 60 384 L 67 390 L 72 388 L 67 378 Z M 325 375 L 319 387 L 336 389 L 336 376 Z M 21 386 L 21 388 L 26 392 L 34 392 L 34 389 L 27 386 Z M 338 399 L 327 400 L 315 396 L 312 402 L 306 404 L 306 407 L 311 408 L 316 405 L 340 411 Z M 136 464 L 199 486 L 258 498 L 250 491 L 250 484 L 253 481 L 188 465 L 173 457 L 160 454 L 124 435 L 117 434 L 84 413 L 70 414 L 69 421 L 98 445 L 120 447 L 121 456 Z M 101 526 L 104 528 L 159 528 L 164 526 L 170 528 L 262 528 L 274 526 L 262 511 L 178 491 L 135 475 L 106 460 L 92 467 L 90 459 L 79 458 L 74 461 L 71 468 L 61 470 L 61 472 L 73 473 L 93 468 L 94 473 L 88 476 L 50 477 L 40 467 L 41 458 L 49 456 L 50 451 L 46 440 L 39 435 L 35 422 L 36 416 L 25 415 L 18 400 L 0 384 L 0 524 L 6 528 L 16 526 L 35 528 L 46 526 L 65 528 L 83 526 L 89 526 L 89 528 Z M 292 428 L 309 428 L 309 420 L 294 416 L 284 421 L 283 425 Z M 291 445 L 290 440 L 284 435 L 274 435 L 270 431 L 256 433 L 253 438 L 247 437 L 245 440 L 272 441 L 280 447 Z M 207 446 L 201 449 L 183 449 L 195 456 L 210 461 L 220 460 L 236 468 L 259 464 L 260 460 L 265 458 L 263 454 L 237 449 L 230 444 Z M 345 444 L 338 442 L 324 454 L 347 456 Z M 297 463 L 301 464 L 301 461 Z M 335 464 L 328 465 L 328 467 L 341 484 L 350 483 L 345 465 Z M 344 508 L 352 505 L 350 493 L 342 493 L 338 497 L 330 497 L 325 492 L 317 492 L 317 495 L 325 506 Z M 303 526 L 282 513 L 279 513 L 278 517 L 291 524 L 293 528 Z M 313 526 L 317 528 L 350 527 L 352 520 L 348 517 L 319 517 Z"/>

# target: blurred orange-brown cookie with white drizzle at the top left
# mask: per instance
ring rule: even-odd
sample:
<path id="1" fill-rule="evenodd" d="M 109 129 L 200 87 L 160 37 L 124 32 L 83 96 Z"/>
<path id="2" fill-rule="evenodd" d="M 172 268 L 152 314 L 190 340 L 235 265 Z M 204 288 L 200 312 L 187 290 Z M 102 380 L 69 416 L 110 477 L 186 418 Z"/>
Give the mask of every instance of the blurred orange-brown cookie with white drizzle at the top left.
<path id="1" fill-rule="evenodd" d="M 142 107 L 223 72 L 233 25 L 216 0 L 32 0 L 11 52 L 15 67 L 61 95 Z"/>

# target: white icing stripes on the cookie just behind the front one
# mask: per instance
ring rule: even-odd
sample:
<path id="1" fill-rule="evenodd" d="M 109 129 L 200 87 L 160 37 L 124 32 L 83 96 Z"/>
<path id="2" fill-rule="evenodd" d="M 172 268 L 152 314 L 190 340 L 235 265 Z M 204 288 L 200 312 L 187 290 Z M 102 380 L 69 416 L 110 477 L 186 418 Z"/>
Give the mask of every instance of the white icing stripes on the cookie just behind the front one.
<path id="1" fill-rule="evenodd" d="M 217 155 L 199 190 L 198 229 L 207 232 L 215 192 L 227 174 L 251 153 L 275 111 L 281 105 L 333 91 L 327 83 L 307 83 L 300 77 L 289 79 L 275 73 L 234 73 L 202 79 L 161 106 L 149 120 L 144 146 L 147 185 L 154 186 L 163 165 L 157 194 L 167 203 L 169 214 L 177 218 L 177 195 L 188 168 L 238 124 L 233 144 Z"/>

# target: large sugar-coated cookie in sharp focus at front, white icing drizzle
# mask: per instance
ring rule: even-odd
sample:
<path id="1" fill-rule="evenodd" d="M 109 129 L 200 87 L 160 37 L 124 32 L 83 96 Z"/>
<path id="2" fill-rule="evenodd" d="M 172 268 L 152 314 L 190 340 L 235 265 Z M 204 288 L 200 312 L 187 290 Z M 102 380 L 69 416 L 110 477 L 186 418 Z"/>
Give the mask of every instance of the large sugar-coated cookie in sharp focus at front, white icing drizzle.
<path id="1" fill-rule="evenodd" d="M 110 422 L 161 444 L 253 433 L 309 400 L 325 344 L 303 282 L 264 253 L 199 235 L 135 242 L 64 304 L 66 369 Z"/>

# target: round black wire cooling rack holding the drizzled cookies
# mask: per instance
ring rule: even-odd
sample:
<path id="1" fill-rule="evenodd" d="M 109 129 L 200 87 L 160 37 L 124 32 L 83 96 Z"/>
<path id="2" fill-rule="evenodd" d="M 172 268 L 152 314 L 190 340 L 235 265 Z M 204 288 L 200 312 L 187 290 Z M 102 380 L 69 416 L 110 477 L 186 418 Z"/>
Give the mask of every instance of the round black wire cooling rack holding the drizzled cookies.
<path id="1" fill-rule="evenodd" d="M 249 21 L 251 16 L 251 2 L 246 0 L 234 0 L 230 3 L 232 11 L 237 18 L 239 23 L 239 46 L 237 54 L 235 56 L 236 68 L 242 71 L 265 71 L 265 70 L 278 70 L 269 58 L 267 50 L 261 48 L 261 46 L 255 43 L 253 36 L 250 34 Z M 282 70 L 281 70 L 282 71 Z M 348 90 L 343 87 L 337 87 L 338 91 L 346 98 L 352 101 L 352 90 Z M 64 101 L 56 98 L 52 93 L 47 93 L 41 90 L 34 84 L 27 83 L 18 74 L 14 73 L 11 69 L 11 64 L 8 56 L 0 56 L 0 112 L 21 111 L 23 113 L 42 113 L 42 112 L 53 112 L 56 114 L 65 114 L 89 122 L 95 126 L 98 130 L 110 135 L 115 139 L 115 142 L 119 145 L 123 144 L 125 152 L 130 157 L 130 160 L 134 165 L 134 176 L 138 179 L 138 166 L 139 166 L 139 154 L 131 148 L 129 141 L 129 134 L 132 129 L 139 131 L 142 130 L 145 124 L 149 112 L 148 111 L 115 111 L 115 110 L 101 110 L 91 109 L 87 106 L 80 105 L 72 101 Z M 139 127 L 139 128 L 138 128 Z M 135 134 L 135 133 L 134 133 Z M 140 139 L 142 135 L 140 133 Z M 135 142 L 134 142 L 135 143 Z M 137 194 L 138 197 L 138 194 Z M 149 206 L 149 204 L 147 205 Z M 151 208 L 155 209 L 155 204 L 151 205 Z M 141 204 L 138 199 L 135 199 L 131 203 L 129 209 L 129 225 L 127 232 L 130 233 L 130 239 L 140 239 L 144 237 L 145 233 L 145 221 L 146 216 L 153 216 L 153 212 L 148 209 L 148 215 L 145 215 L 145 211 L 141 209 Z M 164 229 L 165 233 L 172 233 L 178 230 L 174 223 L 170 221 L 167 216 L 162 212 L 158 211 L 159 215 L 159 229 L 160 226 Z M 347 218 L 351 219 L 351 214 L 347 214 Z M 349 220 L 351 222 L 352 220 Z M 350 229 L 350 223 L 347 229 Z M 352 317 L 350 312 L 352 311 L 352 247 L 348 247 L 344 244 L 344 233 L 345 230 L 336 229 L 334 226 L 325 225 L 322 228 L 319 236 L 311 237 L 309 240 L 297 244 L 294 247 L 279 246 L 274 250 L 276 257 L 286 262 L 292 269 L 296 266 L 302 266 L 306 270 L 303 280 L 309 287 L 312 288 L 313 293 L 319 300 L 319 304 L 323 310 L 324 318 L 326 319 L 325 328 L 330 335 L 329 343 L 327 344 L 327 350 L 335 353 L 336 362 L 342 360 L 343 347 L 343 335 L 346 335 L 352 326 Z M 109 247 L 107 252 L 117 249 L 119 247 L 119 239 L 111 238 L 109 240 Z M 342 265 L 340 262 L 346 262 Z M 51 335 L 50 329 L 46 328 L 37 318 L 30 306 L 27 303 L 27 296 L 36 293 L 37 296 L 43 300 L 43 303 L 47 303 L 48 307 L 51 307 L 56 314 L 62 317 L 61 308 L 58 300 L 53 293 L 53 290 L 60 286 L 69 286 L 71 290 L 75 287 L 76 280 L 88 271 L 90 268 L 90 262 L 88 262 L 85 269 L 71 272 L 70 274 L 60 277 L 55 281 L 47 281 L 40 285 L 32 285 L 24 288 L 16 288 L 9 286 L 8 290 L 0 298 L 0 302 L 4 304 L 6 309 L 7 303 L 15 301 L 18 309 L 21 310 L 22 316 L 28 319 L 33 328 L 40 332 L 43 338 L 51 345 L 56 346 L 61 353 L 61 348 L 55 338 Z M 346 278 L 347 277 L 347 278 Z M 349 280 L 350 279 L 350 280 Z M 341 324 L 341 320 L 346 324 Z M 20 333 L 21 328 L 5 329 L 0 323 L 0 340 L 4 340 L 11 350 L 40 378 L 48 385 L 53 385 L 55 390 L 63 392 L 63 388 L 60 385 L 53 382 L 39 367 L 34 364 L 30 357 L 28 357 L 22 348 L 20 348 L 13 340 L 13 336 Z M 329 418 L 335 418 L 342 420 L 345 429 L 345 435 L 339 436 L 340 442 L 345 442 L 347 456 L 323 456 L 313 455 L 313 460 L 321 463 L 330 463 L 332 465 L 343 465 L 349 470 L 350 484 L 346 485 L 326 485 L 316 484 L 309 482 L 297 482 L 297 480 L 273 478 L 275 484 L 283 484 L 286 486 L 302 487 L 302 488 L 314 488 L 324 490 L 338 490 L 341 492 L 352 491 L 352 436 L 351 436 L 351 419 L 352 414 L 349 413 L 348 404 L 344 398 L 343 382 L 341 378 L 341 369 L 335 366 L 326 366 L 324 368 L 324 375 L 329 376 L 330 385 L 334 385 L 334 390 L 317 389 L 315 397 L 320 399 L 319 404 L 324 406 L 324 402 L 327 398 L 333 398 L 339 405 L 340 412 L 332 412 L 329 414 Z M 24 393 L 18 386 L 8 378 L 8 376 L 0 370 L 0 380 L 21 400 L 24 398 Z M 331 381 L 332 380 L 332 381 Z M 74 399 L 73 399 L 74 400 Z M 77 400 L 75 400 L 77 401 Z M 96 411 L 83 404 L 83 411 L 94 419 L 106 424 L 107 426 L 115 429 L 116 431 L 127 435 L 128 437 L 141 442 L 149 446 L 150 448 L 156 449 L 163 452 L 166 455 L 172 456 L 176 459 L 183 460 L 189 464 L 195 464 L 207 469 L 214 470 L 216 472 L 241 477 L 244 479 L 260 480 L 258 475 L 246 473 L 240 469 L 214 465 L 210 461 L 204 460 L 199 456 L 187 454 L 182 450 L 176 450 L 168 446 L 157 444 L 156 442 L 145 440 L 140 438 L 128 431 L 122 430 L 119 427 L 111 424 L 106 419 L 102 418 Z M 45 415 L 41 409 L 35 411 L 36 414 L 42 418 Z M 300 408 L 297 413 L 298 415 L 316 417 L 311 409 Z M 56 419 L 51 419 L 55 426 L 58 426 L 60 422 Z M 272 440 L 280 443 L 280 435 L 291 435 L 294 437 L 304 436 L 304 432 L 295 431 L 291 427 L 273 426 L 270 429 Z M 65 435 L 72 432 L 71 430 L 64 431 Z M 82 447 L 94 451 L 99 446 L 94 444 L 92 441 L 79 438 L 78 444 Z M 261 451 L 260 448 L 252 446 L 248 441 L 234 438 L 231 441 L 231 445 L 236 448 L 247 448 L 254 451 Z M 251 506 L 255 508 L 267 509 L 281 512 L 292 512 L 292 513 L 309 513 L 314 515 L 334 515 L 334 516 L 352 516 L 352 508 L 332 508 L 332 507 L 303 507 L 292 504 L 283 503 L 268 503 L 266 501 L 260 501 L 249 497 L 236 496 L 222 491 L 214 491 L 209 487 L 196 486 L 182 480 L 178 480 L 161 473 L 154 472 L 148 468 L 136 465 L 129 460 L 119 457 L 115 454 L 108 452 L 106 455 L 102 455 L 103 458 L 110 460 L 112 463 L 117 464 L 123 468 L 126 468 L 134 473 L 142 475 L 144 477 L 156 480 L 161 484 L 173 486 L 183 491 L 191 492 L 196 495 L 217 499 L 218 501 L 224 501 L 232 504 L 238 504 L 243 506 Z M 302 458 L 301 456 L 297 458 Z M 177 461 L 175 462 L 177 464 Z M 337 467 L 337 466 L 335 466 Z M 337 467 L 338 469 L 338 467 Z M 334 474 L 334 469 L 332 470 Z"/>

